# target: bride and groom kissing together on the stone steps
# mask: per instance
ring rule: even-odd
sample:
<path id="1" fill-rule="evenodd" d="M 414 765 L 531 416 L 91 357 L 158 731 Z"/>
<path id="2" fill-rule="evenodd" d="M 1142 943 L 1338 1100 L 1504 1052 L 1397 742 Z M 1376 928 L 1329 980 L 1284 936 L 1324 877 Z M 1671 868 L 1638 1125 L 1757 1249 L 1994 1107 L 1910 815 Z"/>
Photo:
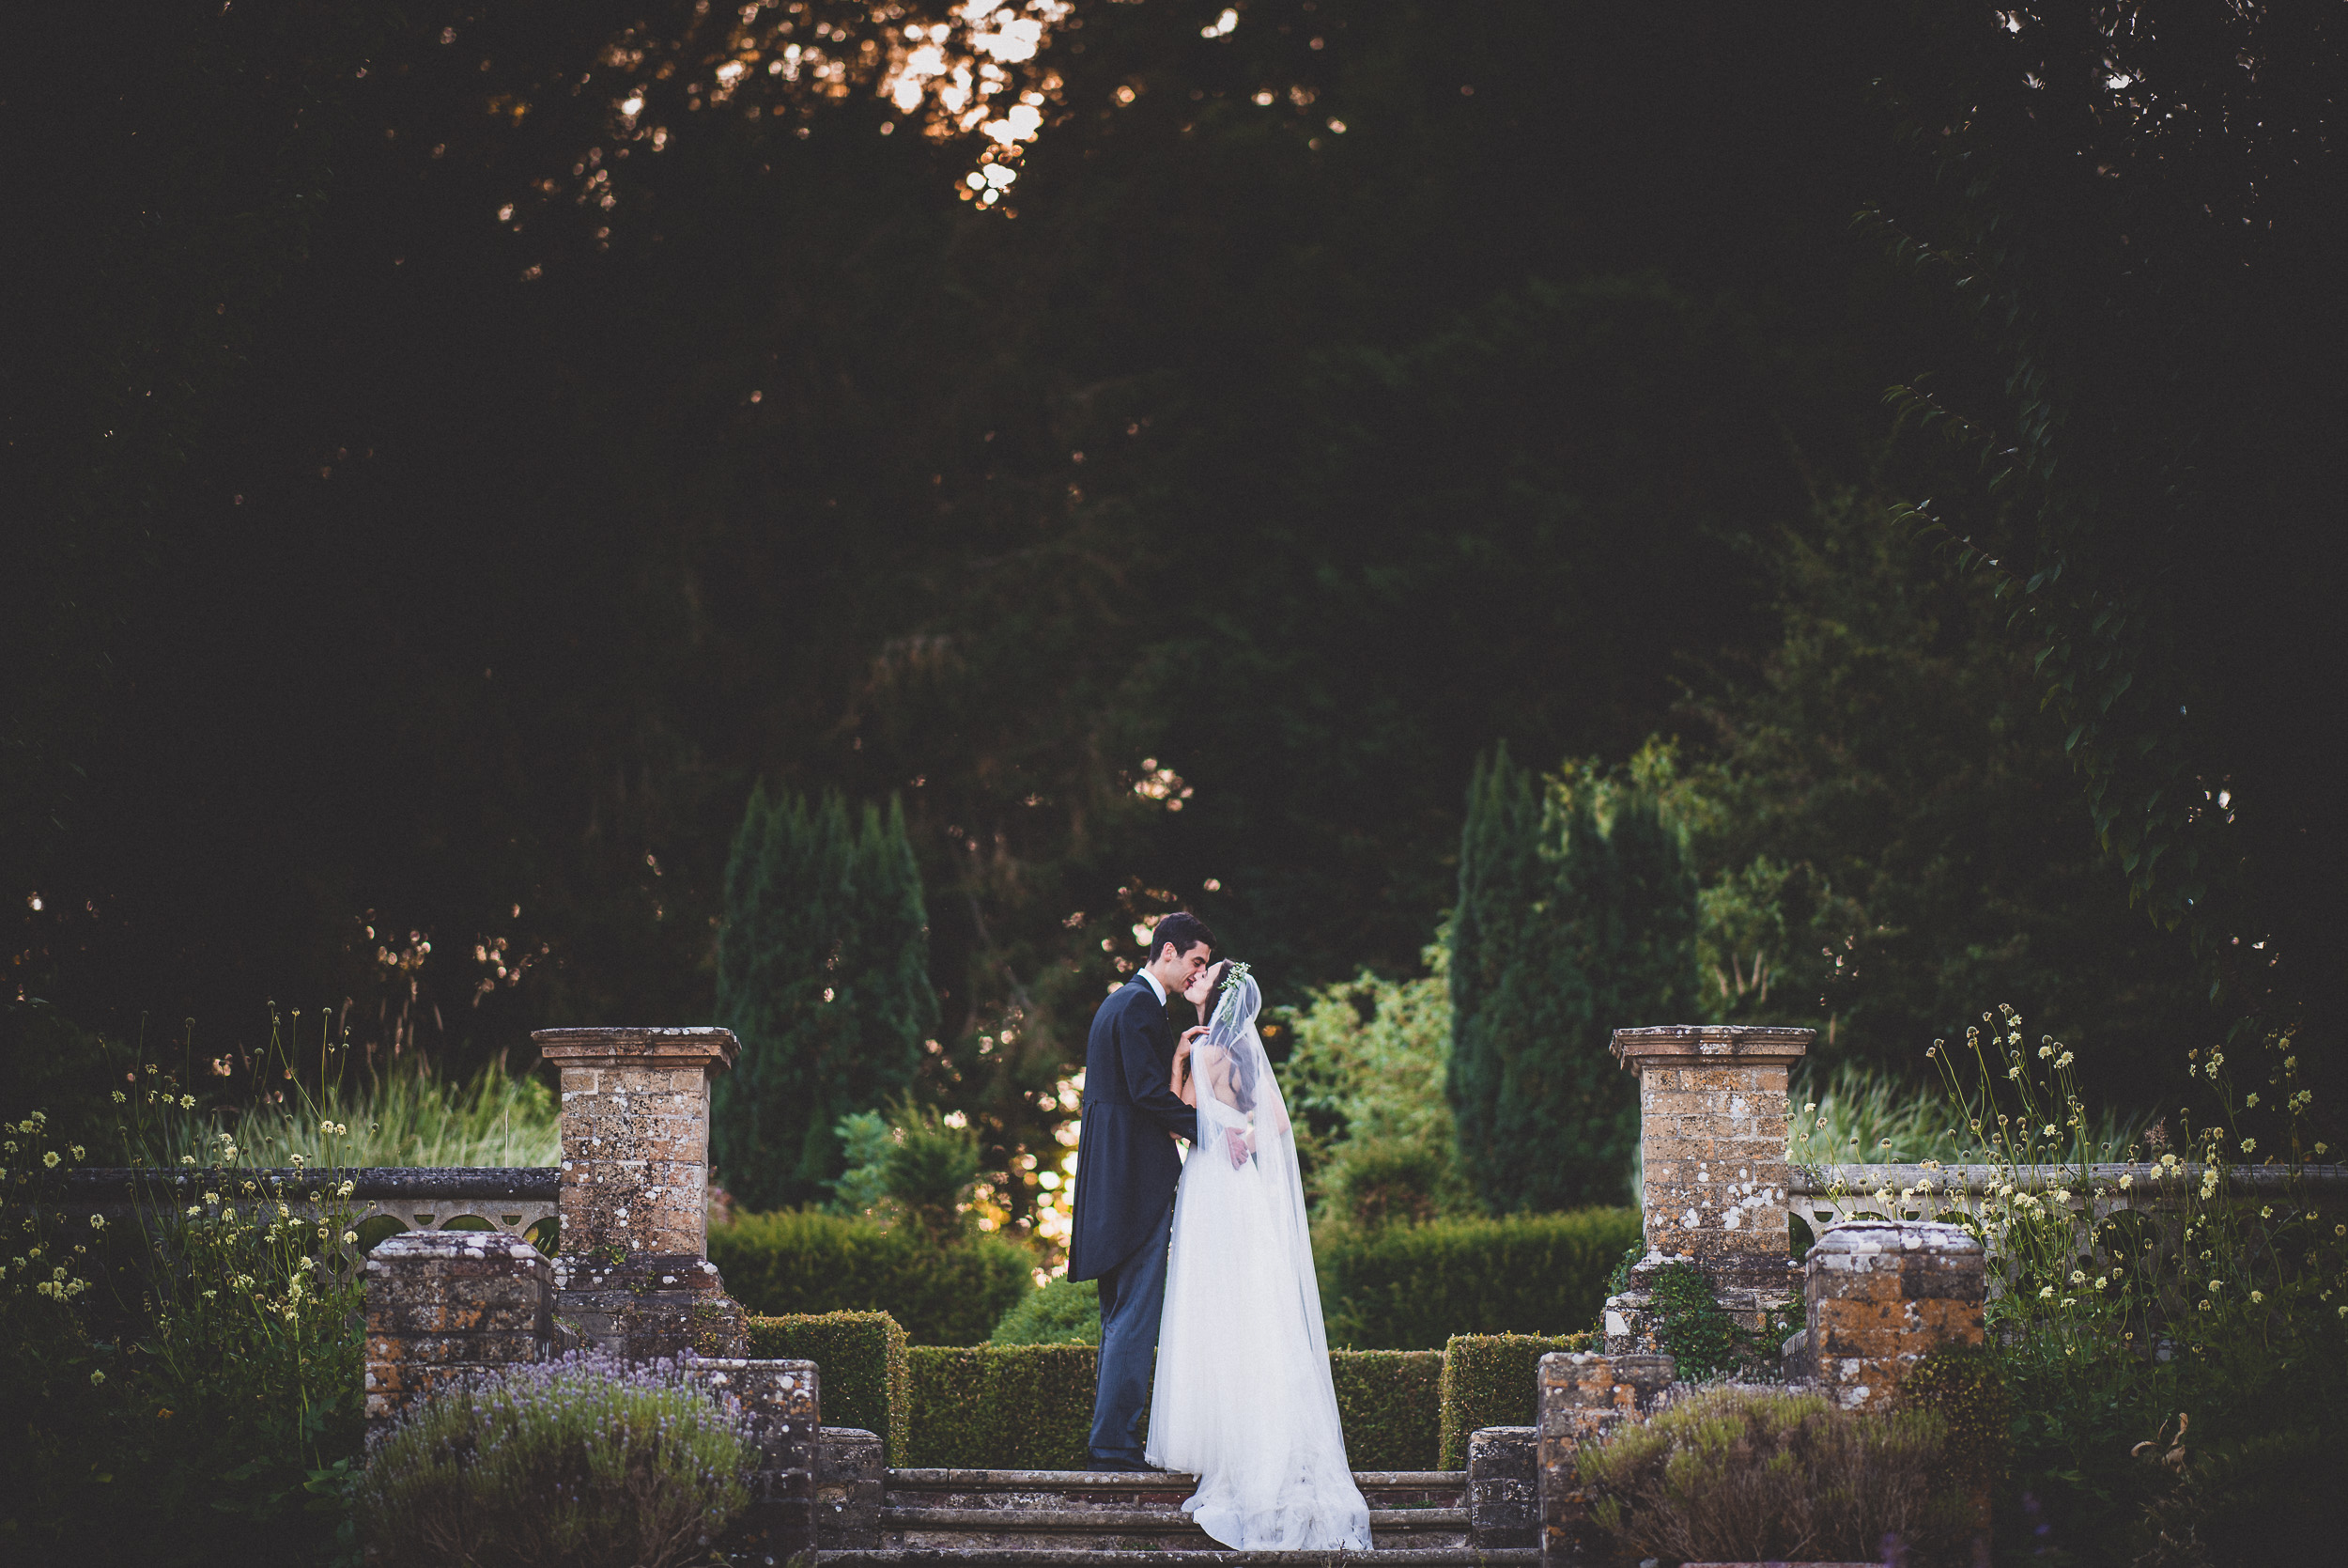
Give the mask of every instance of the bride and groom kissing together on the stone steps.
<path id="1" fill-rule="evenodd" d="M 1181 1040 L 1176 995 L 1200 1019 Z M 1068 1277 L 1101 1289 L 1092 1467 L 1195 1474 L 1183 1512 L 1226 1547 L 1369 1549 L 1261 1005 L 1176 913 L 1092 1019 L 1068 1242 Z"/>

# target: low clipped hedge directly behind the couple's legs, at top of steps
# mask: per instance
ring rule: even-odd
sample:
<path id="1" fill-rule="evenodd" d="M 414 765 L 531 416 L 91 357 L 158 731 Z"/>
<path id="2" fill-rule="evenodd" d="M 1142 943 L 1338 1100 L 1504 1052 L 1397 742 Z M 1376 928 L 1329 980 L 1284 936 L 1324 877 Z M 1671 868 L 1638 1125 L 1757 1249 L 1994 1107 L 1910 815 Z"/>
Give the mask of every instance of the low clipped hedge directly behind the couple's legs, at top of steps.
<path id="1" fill-rule="evenodd" d="M 904 1465 L 1082 1469 L 1092 1462 L 1092 1345 L 972 1345 L 906 1352 L 913 1390 Z M 1435 1469 L 1439 1350 L 1331 1350 L 1345 1455 L 1355 1469 Z M 829 1404 L 824 1420 L 831 1420 Z M 1143 1411 L 1143 1430 L 1148 1411 Z"/>

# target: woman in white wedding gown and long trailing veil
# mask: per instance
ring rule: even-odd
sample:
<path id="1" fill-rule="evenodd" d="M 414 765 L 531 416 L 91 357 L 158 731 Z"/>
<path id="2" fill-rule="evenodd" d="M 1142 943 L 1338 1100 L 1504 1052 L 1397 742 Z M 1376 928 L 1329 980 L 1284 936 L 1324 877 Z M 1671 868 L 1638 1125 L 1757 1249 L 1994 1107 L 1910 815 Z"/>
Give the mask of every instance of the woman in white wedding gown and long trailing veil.
<path id="1" fill-rule="evenodd" d="M 1233 962 L 1200 972 L 1183 995 L 1205 1023 L 1174 1052 L 1174 1091 L 1197 1106 L 1200 1136 L 1174 1197 L 1148 1460 L 1197 1474 L 1183 1512 L 1226 1547 L 1367 1552 L 1296 1134 L 1256 1035 L 1263 998 Z"/>

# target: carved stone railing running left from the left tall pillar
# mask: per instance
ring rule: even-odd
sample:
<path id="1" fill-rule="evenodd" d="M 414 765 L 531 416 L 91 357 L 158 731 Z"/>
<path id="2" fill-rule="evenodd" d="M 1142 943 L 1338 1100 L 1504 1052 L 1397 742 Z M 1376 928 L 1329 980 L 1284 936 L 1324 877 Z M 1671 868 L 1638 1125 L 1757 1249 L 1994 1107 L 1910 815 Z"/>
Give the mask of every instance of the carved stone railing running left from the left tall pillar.
<path id="1" fill-rule="evenodd" d="M 383 1230 L 369 1221 L 397 1221 L 399 1230 L 446 1230 L 453 1221 L 474 1221 L 460 1230 L 495 1230 L 517 1242 L 552 1239 L 552 1221 L 559 1209 L 556 1183 L 561 1171 L 552 1164 L 535 1167 L 369 1167 L 369 1169 L 322 1169 L 322 1167 L 275 1167 L 275 1169 L 160 1169 L 160 1167 L 110 1167 L 59 1171 L 45 1185 L 49 1195 L 68 1204 L 103 1214 L 108 1221 L 136 1221 L 141 1211 L 169 1204 L 185 1209 L 218 1192 L 225 1204 L 242 1207 L 261 1202 L 286 1204 L 301 1218 L 319 1218 L 333 1211 L 352 1221 L 364 1232 Z M 350 1197 L 336 1197 L 343 1183 Z M 319 1202 L 310 1202 L 310 1192 Z M 378 1237 L 369 1235 L 369 1242 Z"/>

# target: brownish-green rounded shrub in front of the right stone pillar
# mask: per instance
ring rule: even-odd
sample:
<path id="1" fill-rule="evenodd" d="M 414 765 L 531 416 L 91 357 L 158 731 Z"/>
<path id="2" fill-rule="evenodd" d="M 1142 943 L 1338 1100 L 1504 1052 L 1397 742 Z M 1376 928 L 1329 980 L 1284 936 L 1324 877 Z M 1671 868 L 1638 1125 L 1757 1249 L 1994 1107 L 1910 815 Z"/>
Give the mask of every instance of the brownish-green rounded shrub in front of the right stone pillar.
<path id="1" fill-rule="evenodd" d="M 1820 1394 L 1719 1387 L 1615 1427 L 1576 1458 L 1630 1559 L 1958 1561 L 1970 1509 L 1939 1418 L 1857 1415 Z"/>

